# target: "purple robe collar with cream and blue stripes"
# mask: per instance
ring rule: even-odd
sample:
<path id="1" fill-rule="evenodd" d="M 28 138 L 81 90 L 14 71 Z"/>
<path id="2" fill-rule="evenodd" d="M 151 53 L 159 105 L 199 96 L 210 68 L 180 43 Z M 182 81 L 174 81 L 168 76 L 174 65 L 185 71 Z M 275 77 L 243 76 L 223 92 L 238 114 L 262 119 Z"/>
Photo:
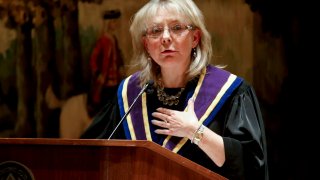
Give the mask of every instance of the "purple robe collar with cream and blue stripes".
<path id="1" fill-rule="evenodd" d="M 128 111 L 129 106 L 141 91 L 139 73 L 136 72 L 127 77 L 119 86 L 118 103 L 121 117 Z M 242 78 L 211 65 L 204 69 L 197 86 L 189 91 L 187 96 L 194 99 L 194 109 L 200 123 L 205 126 L 211 123 L 222 105 L 242 81 Z M 155 134 L 150 129 L 151 113 L 148 111 L 146 93 L 143 93 L 123 121 L 127 139 L 154 141 Z M 187 141 L 188 138 L 166 136 L 160 145 L 177 153 Z"/>

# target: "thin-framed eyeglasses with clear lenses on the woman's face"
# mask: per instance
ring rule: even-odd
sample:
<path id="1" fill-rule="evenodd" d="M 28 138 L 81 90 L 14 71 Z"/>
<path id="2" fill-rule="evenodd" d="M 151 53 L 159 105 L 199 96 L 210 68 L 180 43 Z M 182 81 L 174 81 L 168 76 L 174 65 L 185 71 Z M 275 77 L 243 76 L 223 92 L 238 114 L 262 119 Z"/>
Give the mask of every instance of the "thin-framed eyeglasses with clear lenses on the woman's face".
<path id="1" fill-rule="evenodd" d="M 157 39 L 163 35 L 164 30 L 168 30 L 169 33 L 174 37 L 179 37 L 182 35 L 183 32 L 186 30 L 194 30 L 193 25 L 185 25 L 185 24 L 173 24 L 169 25 L 169 27 L 165 28 L 161 25 L 156 25 L 147 28 L 146 36 L 149 38 Z"/>

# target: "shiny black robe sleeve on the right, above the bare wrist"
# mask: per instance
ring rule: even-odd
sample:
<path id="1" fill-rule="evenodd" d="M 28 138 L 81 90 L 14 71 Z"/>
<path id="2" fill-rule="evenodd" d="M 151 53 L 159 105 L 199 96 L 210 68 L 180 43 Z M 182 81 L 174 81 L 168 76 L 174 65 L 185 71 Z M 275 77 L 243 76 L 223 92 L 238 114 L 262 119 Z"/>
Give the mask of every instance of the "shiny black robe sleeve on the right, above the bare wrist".
<path id="1" fill-rule="evenodd" d="M 264 122 L 254 89 L 240 86 L 230 106 L 223 132 L 226 161 L 222 168 L 230 179 L 268 179 Z"/>

